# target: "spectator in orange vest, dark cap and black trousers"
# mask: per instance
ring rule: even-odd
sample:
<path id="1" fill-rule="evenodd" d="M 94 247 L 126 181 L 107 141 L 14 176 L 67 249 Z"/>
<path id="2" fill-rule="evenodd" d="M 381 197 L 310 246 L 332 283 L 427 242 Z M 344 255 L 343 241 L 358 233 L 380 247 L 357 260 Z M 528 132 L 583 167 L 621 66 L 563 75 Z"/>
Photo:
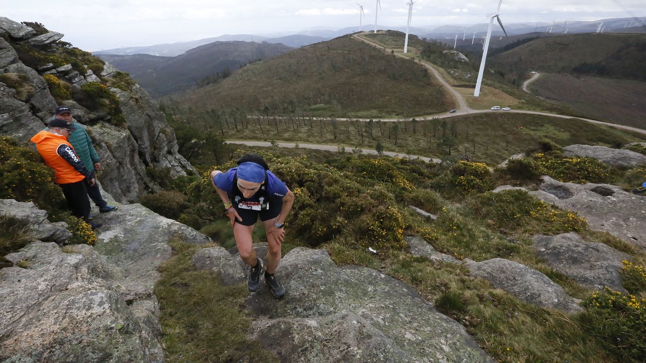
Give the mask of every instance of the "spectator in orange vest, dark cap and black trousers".
<path id="1" fill-rule="evenodd" d="M 74 131 L 74 125 L 69 125 L 62 119 L 53 119 L 49 128 L 38 132 L 31 141 L 36 143 L 36 149 L 45 160 L 48 167 L 54 169 L 54 182 L 57 183 L 72 214 L 92 225 L 92 229 L 101 224 L 90 222 L 90 200 L 87 196 L 84 180 L 94 185 L 94 174 L 89 172 L 83 161 L 74 152 L 67 137 Z"/>

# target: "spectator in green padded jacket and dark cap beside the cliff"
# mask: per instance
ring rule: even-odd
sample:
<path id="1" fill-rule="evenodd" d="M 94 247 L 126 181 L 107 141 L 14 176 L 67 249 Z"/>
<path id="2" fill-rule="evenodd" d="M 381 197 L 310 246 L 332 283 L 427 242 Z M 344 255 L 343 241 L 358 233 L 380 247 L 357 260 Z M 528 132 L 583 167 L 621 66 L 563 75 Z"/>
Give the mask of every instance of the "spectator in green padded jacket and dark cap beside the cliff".
<path id="1" fill-rule="evenodd" d="M 62 119 L 63 121 L 67 122 L 68 125 L 74 125 L 74 127 L 76 127 L 76 129 L 72 131 L 69 136 L 67 136 L 67 140 L 70 144 L 72 144 L 72 147 L 74 147 L 74 151 L 76 151 L 76 154 L 79 156 L 81 161 L 83 161 L 85 168 L 92 174 L 94 174 L 95 171 L 101 170 L 99 155 L 96 153 L 96 150 L 94 150 L 94 146 L 92 146 L 92 140 L 87 134 L 87 131 L 83 129 L 83 126 L 81 126 L 80 123 L 74 121 L 74 118 L 72 118 L 72 110 L 70 110 L 70 108 L 66 106 L 56 107 L 54 118 Z M 85 187 L 87 188 L 87 195 L 89 195 L 90 199 L 92 199 L 92 202 L 94 202 L 94 204 L 99 207 L 99 212 L 107 213 L 116 209 L 114 205 L 108 205 L 108 202 L 105 202 L 105 200 L 103 200 L 101 191 L 99 191 L 98 182 L 94 183 L 94 185 L 90 185 L 86 181 Z"/>

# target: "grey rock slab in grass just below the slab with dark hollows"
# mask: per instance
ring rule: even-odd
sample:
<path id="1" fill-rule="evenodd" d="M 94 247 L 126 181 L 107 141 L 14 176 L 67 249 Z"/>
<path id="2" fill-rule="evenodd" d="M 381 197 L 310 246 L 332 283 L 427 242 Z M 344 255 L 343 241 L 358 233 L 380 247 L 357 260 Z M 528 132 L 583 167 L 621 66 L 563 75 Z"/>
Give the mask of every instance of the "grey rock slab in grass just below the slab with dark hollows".
<path id="1" fill-rule="evenodd" d="M 593 290 L 607 286 L 623 293 L 621 260 L 630 256 L 596 242 L 585 242 L 574 232 L 557 236 L 534 236 L 534 248 L 550 267 L 570 276 L 581 285 Z"/>

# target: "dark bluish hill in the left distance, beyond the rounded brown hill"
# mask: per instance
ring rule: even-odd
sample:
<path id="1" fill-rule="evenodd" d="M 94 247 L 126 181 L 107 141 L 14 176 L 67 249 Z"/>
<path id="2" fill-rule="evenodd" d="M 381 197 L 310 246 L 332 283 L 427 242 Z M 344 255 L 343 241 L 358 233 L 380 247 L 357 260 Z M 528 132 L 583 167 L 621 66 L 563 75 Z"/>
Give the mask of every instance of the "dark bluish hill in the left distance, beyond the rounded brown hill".
<path id="1" fill-rule="evenodd" d="M 132 79 L 141 84 L 152 96 L 160 97 L 194 87 L 196 83 L 209 83 L 225 77 L 248 63 L 289 52 L 282 44 L 246 41 L 216 41 L 188 50 L 177 57 L 101 56 L 115 59 Z"/>

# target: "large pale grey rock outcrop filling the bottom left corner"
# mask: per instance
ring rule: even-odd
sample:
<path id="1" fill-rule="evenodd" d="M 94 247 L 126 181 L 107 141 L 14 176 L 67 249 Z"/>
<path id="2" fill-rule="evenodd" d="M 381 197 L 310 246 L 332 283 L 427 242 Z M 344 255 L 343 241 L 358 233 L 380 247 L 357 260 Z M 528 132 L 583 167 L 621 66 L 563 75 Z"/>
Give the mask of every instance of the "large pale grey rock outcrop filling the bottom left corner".
<path id="1" fill-rule="evenodd" d="M 31 222 L 42 235 L 65 225 L 49 223 L 32 203 L 2 200 L 0 213 Z M 139 204 L 94 220 L 103 223 L 94 247 L 38 241 L 6 256 L 22 267 L 0 273 L 0 361 L 163 361 L 157 269 L 171 256 L 171 238 L 210 240 Z"/>

